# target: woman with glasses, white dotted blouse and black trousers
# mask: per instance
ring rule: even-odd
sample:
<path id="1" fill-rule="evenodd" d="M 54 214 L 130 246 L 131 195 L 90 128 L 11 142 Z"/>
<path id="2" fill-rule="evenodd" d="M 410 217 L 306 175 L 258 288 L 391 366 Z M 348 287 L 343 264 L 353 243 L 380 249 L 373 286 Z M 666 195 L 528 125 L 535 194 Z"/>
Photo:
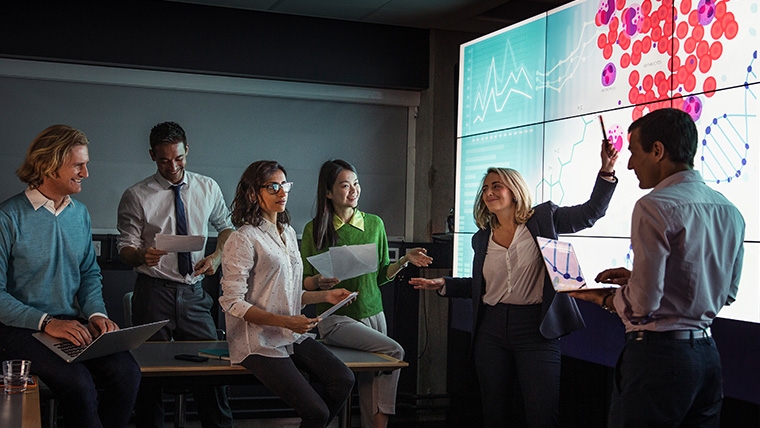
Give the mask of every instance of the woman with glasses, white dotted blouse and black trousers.
<path id="1" fill-rule="evenodd" d="M 338 303 L 345 289 L 303 291 L 303 265 L 286 209 L 293 183 L 275 161 L 252 163 L 232 202 L 237 230 L 222 255 L 222 296 L 230 359 L 250 370 L 301 418 L 301 427 L 325 427 L 354 384 L 333 353 L 305 335 L 317 318 L 303 305 Z M 303 373 L 308 374 L 308 380 Z M 323 387 L 313 388 L 311 382 Z"/>

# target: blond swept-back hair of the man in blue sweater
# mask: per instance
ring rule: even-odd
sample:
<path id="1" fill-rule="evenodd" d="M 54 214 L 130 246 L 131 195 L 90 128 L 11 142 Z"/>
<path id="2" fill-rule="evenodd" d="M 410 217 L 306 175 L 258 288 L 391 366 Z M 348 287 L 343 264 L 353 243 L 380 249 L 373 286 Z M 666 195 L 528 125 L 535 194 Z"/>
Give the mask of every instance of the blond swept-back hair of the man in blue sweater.
<path id="1" fill-rule="evenodd" d="M 74 146 L 89 144 L 84 132 L 68 125 L 53 125 L 37 135 L 26 150 L 26 158 L 16 175 L 32 189 L 46 177 L 52 177 L 63 166 Z"/>

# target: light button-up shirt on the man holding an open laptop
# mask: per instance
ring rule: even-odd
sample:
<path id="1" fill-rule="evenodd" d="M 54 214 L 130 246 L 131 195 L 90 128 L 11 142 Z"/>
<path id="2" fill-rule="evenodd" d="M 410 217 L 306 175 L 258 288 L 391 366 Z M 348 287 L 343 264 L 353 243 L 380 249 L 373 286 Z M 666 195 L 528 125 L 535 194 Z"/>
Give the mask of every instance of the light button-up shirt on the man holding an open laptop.
<path id="1" fill-rule="evenodd" d="M 704 329 L 736 299 L 744 218 L 698 171 L 639 199 L 631 230 L 633 269 L 614 298 L 626 331 Z"/>

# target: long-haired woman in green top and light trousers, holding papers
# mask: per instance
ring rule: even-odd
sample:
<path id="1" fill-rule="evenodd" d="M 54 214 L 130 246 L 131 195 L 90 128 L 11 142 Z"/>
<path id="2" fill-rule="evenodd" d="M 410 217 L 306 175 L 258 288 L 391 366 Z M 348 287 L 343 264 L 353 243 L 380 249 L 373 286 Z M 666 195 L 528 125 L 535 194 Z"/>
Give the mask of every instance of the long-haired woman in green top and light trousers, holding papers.
<path id="1" fill-rule="evenodd" d="M 350 163 L 336 159 L 322 165 L 317 183 L 317 215 L 306 224 L 301 240 L 303 285 L 307 290 L 329 290 L 340 282 L 341 287 L 359 292 L 356 302 L 344 306 L 336 315 L 317 325 L 326 344 L 403 360 L 404 349 L 387 336 L 379 286 L 391 281 L 409 262 L 423 267 L 433 259 L 425 254 L 424 248 L 414 248 L 391 263 L 385 225 L 380 217 L 357 209 L 360 194 L 359 178 Z M 377 245 L 375 272 L 340 281 L 323 277 L 307 260 L 307 257 L 328 251 L 330 247 L 361 244 Z M 327 305 L 317 305 L 318 312 L 325 309 Z M 396 410 L 398 376 L 398 370 L 358 375 L 363 428 L 387 426 L 388 416 L 395 414 Z"/>

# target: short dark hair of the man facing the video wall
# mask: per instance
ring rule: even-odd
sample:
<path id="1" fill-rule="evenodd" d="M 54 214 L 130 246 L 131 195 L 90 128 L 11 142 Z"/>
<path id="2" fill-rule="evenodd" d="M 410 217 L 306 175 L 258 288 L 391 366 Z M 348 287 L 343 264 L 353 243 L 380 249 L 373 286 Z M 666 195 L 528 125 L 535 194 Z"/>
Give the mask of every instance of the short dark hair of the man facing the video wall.
<path id="1" fill-rule="evenodd" d="M 671 161 L 694 167 L 697 154 L 697 126 L 688 113 L 675 108 L 655 110 L 636 119 L 628 132 L 639 130 L 641 148 L 649 153 L 659 141 Z"/>

